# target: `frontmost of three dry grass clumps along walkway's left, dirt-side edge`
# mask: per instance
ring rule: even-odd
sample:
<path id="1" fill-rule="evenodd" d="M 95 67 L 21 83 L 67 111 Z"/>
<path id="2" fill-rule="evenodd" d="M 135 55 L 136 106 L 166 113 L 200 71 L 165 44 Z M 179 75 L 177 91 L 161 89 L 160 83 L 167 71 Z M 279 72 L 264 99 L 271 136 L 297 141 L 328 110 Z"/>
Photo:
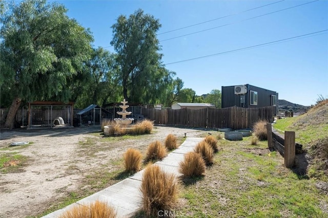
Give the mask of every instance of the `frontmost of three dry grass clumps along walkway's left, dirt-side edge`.
<path id="1" fill-rule="evenodd" d="M 127 172 L 136 172 L 141 168 L 142 154 L 140 151 L 129 148 L 123 155 L 124 166 Z"/>

